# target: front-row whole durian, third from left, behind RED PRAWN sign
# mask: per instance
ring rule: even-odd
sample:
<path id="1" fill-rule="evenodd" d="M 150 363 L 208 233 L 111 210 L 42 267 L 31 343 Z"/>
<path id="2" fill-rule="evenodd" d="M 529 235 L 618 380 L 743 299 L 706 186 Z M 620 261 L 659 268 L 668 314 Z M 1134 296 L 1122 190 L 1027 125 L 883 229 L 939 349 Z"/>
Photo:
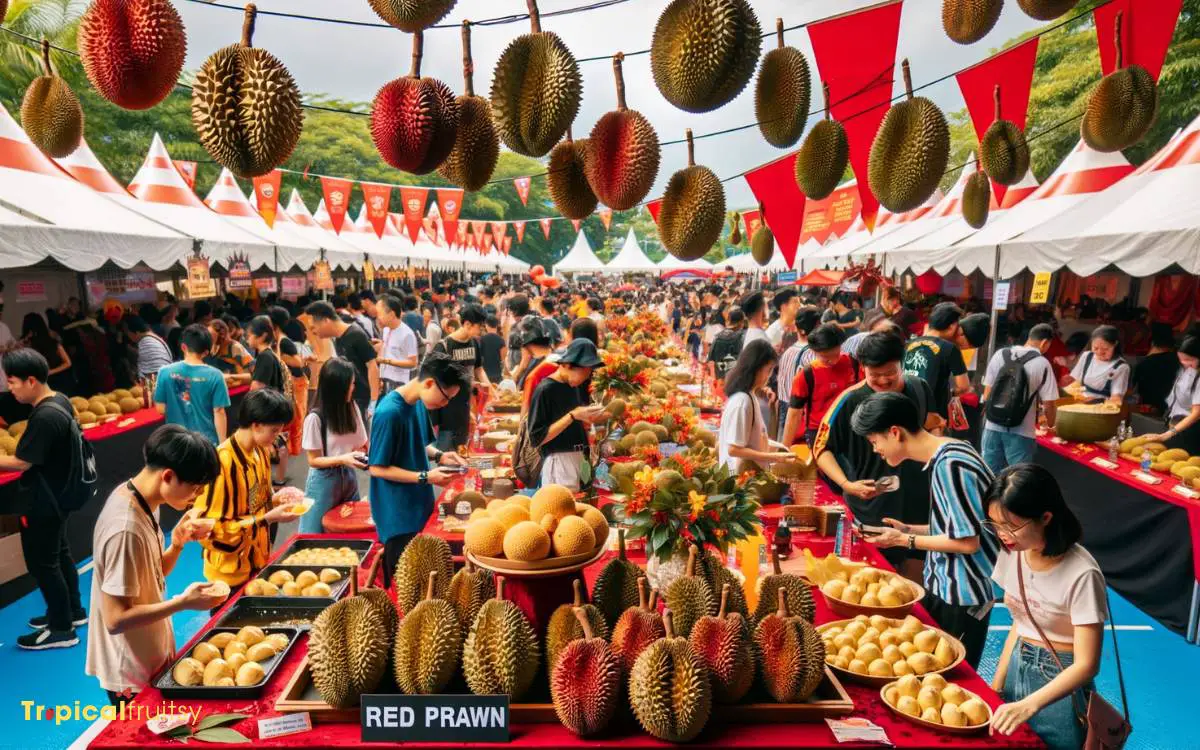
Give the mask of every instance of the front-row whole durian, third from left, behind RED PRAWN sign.
<path id="1" fill-rule="evenodd" d="M 496 599 L 484 604 L 462 647 L 462 671 L 475 695 L 505 694 L 520 700 L 539 666 L 538 636 L 521 607 L 504 600 L 504 578 Z"/>

